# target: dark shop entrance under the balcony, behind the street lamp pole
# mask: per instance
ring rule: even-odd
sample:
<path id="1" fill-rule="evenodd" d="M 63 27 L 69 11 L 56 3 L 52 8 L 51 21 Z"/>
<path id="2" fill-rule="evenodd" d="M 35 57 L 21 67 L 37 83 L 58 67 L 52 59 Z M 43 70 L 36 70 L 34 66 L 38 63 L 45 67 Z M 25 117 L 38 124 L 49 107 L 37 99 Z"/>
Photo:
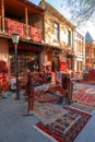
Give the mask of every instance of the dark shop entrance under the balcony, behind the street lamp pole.
<path id="1" fill-rule="evenodd" d="M 31 71 L 39 71 L 39 54 L 35 51 L 21 51 L 17 55 L 19 73 L 25 72 L 27 68 Z M 10 50 L 10 73 L 15 72 L 14 50 Z"/>

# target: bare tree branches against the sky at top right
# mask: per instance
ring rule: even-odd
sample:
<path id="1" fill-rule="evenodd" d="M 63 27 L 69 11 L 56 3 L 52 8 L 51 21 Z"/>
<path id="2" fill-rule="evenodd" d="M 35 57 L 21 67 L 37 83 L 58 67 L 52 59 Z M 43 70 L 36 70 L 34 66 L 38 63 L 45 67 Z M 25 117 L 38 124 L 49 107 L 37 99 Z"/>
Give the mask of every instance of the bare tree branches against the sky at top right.
<path id="1" fill-rule="evenodd" d="M 71 20 L 76 24 L 95 20 L 95 0 L 63 0 L 62 7 L 68 7 Z"/>

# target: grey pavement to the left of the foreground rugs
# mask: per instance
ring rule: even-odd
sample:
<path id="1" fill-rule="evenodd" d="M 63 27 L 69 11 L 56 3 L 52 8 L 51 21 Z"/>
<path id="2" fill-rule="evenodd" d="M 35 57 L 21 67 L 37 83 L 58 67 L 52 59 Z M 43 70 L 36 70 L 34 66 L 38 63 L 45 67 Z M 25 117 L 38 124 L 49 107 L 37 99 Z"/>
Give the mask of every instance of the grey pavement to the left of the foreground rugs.
<path id="1" fill-rule="evenodd" d="M 34 128 L 38 122 L 35 116 L 23 116 L 26 102 L 14 98 L 0 99 L 0 142 L 51 142 Z"/>

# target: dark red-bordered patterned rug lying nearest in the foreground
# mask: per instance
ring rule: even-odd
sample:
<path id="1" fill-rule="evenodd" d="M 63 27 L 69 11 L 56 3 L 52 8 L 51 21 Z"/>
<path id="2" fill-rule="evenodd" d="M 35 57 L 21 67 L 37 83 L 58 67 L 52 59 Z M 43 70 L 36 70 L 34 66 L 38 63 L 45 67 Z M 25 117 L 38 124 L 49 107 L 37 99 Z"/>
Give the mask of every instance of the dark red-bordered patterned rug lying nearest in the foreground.
<path id="1" fill-rule="evenodd" d="M 35 127 L 37 130 L 41 130 L 43 133 L 52 137 L 58 142 L 73 142 L 91 118 L 91 115 L 72 107 L 66 107 L 63 110 L 67 113 L 54 122 L 44 125 L 43 121 L 39 121 Z"/>

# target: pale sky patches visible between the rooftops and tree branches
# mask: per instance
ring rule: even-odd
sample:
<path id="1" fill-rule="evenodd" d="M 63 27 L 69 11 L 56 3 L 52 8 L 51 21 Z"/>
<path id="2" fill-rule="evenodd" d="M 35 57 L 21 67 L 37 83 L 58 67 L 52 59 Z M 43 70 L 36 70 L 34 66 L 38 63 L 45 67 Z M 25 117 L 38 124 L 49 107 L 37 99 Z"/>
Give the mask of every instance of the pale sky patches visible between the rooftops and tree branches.
<path id="1" fill-rule="evenodd" d="M 40 0 L 29 0 L 29 1 L 35 4 L 38 4 Z M 62 13 L 63 16 L 70 20 L 70 13 L 69 13 L 68 8 L 61 7 L 63 0 L 46 0 L 46 1 L 50 3 L 54 8 L 56 8 L 60 13 Z M 85 35 L 86 32 L 90 32 L 91 36 L 95 40 L 95 32 L 94 32 L 95 26 L 91 21 L 86 22 L 85 25 L 81 25 L 79 29 L 83 35 Z"/>

